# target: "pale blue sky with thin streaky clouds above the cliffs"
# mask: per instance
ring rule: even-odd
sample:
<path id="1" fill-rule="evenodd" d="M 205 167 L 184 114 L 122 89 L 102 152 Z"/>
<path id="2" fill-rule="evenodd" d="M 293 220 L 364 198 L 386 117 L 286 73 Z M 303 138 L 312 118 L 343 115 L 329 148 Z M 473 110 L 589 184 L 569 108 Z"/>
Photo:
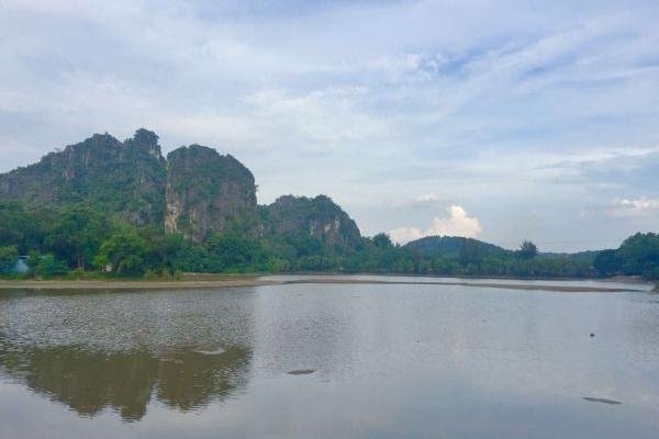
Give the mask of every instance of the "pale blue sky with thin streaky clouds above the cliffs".
<path id="1" fill-rule="evenodd" d="M 0 0 L 0 172 L 155 131 L 361 233 L 659 232 L 659 2 Z"/>

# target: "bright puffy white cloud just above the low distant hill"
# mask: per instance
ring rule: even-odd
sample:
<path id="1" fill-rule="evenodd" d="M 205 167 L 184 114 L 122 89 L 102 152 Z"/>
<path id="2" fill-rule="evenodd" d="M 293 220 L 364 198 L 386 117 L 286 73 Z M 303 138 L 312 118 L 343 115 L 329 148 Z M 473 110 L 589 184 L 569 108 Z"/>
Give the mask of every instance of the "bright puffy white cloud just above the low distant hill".
<path id="1" fill-rule="evenodd" d="M 389 232 L 391 239 L 405 244 L 425 236 L 465 236 L 473 238 L 481 233 L 481 225 L 477 217 L 468 216 L 467 211 L 459 205 L 446 209 L 448 217 L 435 217 L 433 224 L 425 230 L 418 227 L 399 227 Z"/>

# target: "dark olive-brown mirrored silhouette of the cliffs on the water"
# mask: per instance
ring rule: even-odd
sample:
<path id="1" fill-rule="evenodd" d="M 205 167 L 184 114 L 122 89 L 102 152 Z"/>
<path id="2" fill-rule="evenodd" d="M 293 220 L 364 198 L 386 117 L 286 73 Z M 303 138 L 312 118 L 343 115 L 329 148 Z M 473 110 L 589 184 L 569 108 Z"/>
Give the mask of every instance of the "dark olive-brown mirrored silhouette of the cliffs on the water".
<path id="1" fill-rule="evenodd" d="M 112 407 L 124 420 L 141 419 L 154 394 L 183 412 L 224 399 L 245 385 L 250 358 L 244 347 L 155 356 L 147 350 L 14 347 L 0 336 L 0 370 L 80 415 Z"/>

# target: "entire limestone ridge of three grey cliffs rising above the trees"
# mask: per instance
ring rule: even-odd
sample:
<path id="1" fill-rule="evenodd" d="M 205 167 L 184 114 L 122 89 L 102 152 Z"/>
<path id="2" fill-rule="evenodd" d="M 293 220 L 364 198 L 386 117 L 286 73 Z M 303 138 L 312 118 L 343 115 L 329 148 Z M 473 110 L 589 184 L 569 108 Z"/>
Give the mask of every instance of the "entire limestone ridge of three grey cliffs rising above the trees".
<path id="1" fill-rule="evenodd" d="M 238 160 L 200 145 L 165 159 L 158 136 L 147 130 L 124 142 L 94 134 L 0 175 L 0 201 L 10 200 L 29 209 L 89 204 L 196 243 L 236 223 L 255 235 L 311 236 L 326 245 L 354 247 L 360 239 L 355 222 L 330 198 L 286 195 L 257 207 L 254 176 Z"/>

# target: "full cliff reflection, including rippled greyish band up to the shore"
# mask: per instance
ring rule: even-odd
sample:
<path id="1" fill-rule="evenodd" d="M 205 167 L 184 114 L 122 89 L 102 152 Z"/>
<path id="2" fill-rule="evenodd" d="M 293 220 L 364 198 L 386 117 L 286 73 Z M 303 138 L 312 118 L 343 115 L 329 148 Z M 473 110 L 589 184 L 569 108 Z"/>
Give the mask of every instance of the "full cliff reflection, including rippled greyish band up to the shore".
<path id="1" fill-rule="evenodd" d="M 254 299 L 250 289 L 0 294 L 0 379 L 83 417 L 110 408 L 138 420 L 154 401 L 194 410 L 246 385 Z"/>

